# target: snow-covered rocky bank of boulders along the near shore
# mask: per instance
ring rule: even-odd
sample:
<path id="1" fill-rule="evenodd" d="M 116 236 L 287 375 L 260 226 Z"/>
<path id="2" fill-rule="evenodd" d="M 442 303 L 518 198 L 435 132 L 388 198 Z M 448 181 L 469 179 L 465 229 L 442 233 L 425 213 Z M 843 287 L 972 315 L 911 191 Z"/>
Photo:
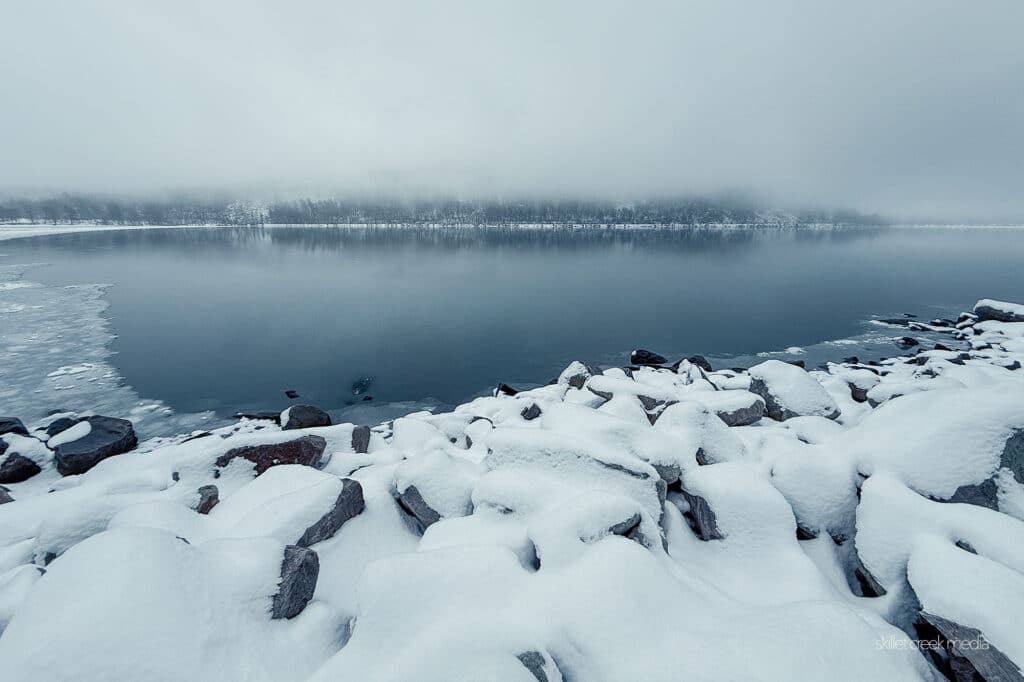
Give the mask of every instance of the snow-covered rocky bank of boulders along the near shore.
<path id="1" fill-rule="evenodd" d="M 577 363 L 137 446 L 0 422 L 4 674 L 1020 679 L 1024 323 L 980 303 L 928 323 L 942 347 L 810 373 Z"/>

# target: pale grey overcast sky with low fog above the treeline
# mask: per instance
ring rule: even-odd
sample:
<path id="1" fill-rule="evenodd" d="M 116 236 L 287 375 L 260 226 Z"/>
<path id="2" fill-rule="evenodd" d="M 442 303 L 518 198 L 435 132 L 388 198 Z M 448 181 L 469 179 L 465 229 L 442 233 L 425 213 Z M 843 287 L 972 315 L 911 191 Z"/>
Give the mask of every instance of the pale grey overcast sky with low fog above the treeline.
<path id="1" fill-rule="evenodd" d="M 1024 1 L 0 0 L 0 190 L 1024 219 Z"/>

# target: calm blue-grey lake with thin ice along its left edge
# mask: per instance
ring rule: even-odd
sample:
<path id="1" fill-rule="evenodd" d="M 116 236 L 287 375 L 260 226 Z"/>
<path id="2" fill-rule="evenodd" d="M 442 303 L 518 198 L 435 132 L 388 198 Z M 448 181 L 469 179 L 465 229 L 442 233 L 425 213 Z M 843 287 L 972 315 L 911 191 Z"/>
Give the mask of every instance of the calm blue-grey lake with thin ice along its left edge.
<path id="1" fill-rule="evenodd" d="M 636 347 L 891 355 L 903 332 L 873 316 L 1024 300 L 1012 228 L 123 229 L 0 254 L 0 413 L 26 418 L 119 399 L 223 418 L 294 390 L 371 419 Z"/>

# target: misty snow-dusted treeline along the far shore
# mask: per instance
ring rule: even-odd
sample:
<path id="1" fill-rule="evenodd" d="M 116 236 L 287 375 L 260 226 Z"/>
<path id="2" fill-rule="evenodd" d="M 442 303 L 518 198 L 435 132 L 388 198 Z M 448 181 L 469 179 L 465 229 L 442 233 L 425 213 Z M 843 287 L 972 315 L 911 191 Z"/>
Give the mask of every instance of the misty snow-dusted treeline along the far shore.
<path id="1" fill-rule="evenodd" d="M 61 195 L 0 199 L 0 223 L 111 225 L 707 225 L 857 224 L 882 219 L 855 211 L 779 211 L 749 200 L 690 198 L 613 203 L 583 200 L 292 201 L 106 199 Z"/>

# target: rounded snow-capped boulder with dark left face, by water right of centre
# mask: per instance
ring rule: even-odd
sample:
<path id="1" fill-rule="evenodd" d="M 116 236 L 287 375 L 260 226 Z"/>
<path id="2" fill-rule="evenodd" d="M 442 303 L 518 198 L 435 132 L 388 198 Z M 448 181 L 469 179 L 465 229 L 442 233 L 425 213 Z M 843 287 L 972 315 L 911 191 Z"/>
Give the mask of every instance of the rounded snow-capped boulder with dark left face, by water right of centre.
<path id="1" fill-rule="evenodd" d="M 767 360 L 750 370 L 751 391 L 765 400 L 765 413 L 781 422 L 793 417 L 839 417 L 839 406 L 828 392 L 801 368 Z"/>

